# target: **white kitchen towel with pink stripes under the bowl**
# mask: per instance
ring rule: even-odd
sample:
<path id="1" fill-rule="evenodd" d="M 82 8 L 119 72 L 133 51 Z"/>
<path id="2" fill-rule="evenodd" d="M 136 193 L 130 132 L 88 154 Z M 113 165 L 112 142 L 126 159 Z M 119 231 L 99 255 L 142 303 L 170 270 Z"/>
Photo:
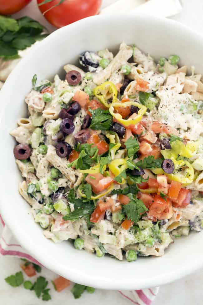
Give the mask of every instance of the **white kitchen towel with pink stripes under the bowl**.
<path id="1" fill-rule="evenodd" d="M 40 262 L 32 257 L 26 250 L 24 250 L 15 240 L 12 232 L 5 225 L 2 216 L 0 214 L 0 253 L 2 255 L 10 255 L 15 257 L 26 258 L 28 261 L 37 265 L 41 265 Z M 134 291 L 118 291 L 122 297 L 137 305 L 151 305 L 154 301 L 159 287 L 146 288 Z"/>

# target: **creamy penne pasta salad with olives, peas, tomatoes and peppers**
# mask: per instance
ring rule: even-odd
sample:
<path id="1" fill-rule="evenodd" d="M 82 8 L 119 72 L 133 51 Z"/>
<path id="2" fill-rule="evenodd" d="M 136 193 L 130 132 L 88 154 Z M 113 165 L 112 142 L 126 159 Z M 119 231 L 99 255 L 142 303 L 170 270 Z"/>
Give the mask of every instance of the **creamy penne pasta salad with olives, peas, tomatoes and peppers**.
<path id="1" fill-rule="evenodd" d="M 203 83 L 179 60 L 121 43 L 33 76 L 11 135 L 45 237 L 132 262 L 203 229 Z"/>

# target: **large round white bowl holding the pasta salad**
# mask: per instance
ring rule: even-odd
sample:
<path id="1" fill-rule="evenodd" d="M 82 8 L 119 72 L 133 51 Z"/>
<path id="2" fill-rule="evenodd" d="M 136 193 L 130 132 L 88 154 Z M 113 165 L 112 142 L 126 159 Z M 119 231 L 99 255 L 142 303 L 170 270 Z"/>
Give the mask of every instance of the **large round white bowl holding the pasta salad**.
<path id="1" fill-rule="evenodd" d="M 9 132 L 27 114 L 25 95 L 31 79 L 51 78 L 67 63 L 78 63 L 84 50 L 115 49 L 125 41 L 136 44 L 156 60 L 178 54 L 181 65 L 203 72 L 203 39 L 180 23 L 150 16 L 94 16 L 61 28 L 45 38 L 17 65 L 0 92 L 1 192 L 0 210 L 20 244 L 47 268 L 73 282 L 104 289 L 140 289 L 166 284 L 203 266 L 203 233 L 181 237 L 163 257 L 139 257 L 136 262 L 98 258 L 71 243 L 54 244 L 42 234 L 30 206 L 18 193 L 22 179 L 15 164 L 15 141 Z"/>

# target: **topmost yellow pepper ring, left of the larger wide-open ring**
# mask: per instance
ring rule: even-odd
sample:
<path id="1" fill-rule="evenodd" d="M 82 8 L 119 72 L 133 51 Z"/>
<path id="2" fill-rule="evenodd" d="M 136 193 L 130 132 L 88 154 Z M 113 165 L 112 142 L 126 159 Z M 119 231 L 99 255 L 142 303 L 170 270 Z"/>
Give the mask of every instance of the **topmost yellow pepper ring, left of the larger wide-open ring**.
<path id="1" fill-rule="evenodd" d="M 100 102 L 106 106 L 110 107 L 111 104 L 107 103 L 107 100 L 112 97 L 112 103 L 117 101 L 117 89 L 116 86 L 111 82 L 105 82 L 94 88 L 93 94 L 100 100 Z"/>

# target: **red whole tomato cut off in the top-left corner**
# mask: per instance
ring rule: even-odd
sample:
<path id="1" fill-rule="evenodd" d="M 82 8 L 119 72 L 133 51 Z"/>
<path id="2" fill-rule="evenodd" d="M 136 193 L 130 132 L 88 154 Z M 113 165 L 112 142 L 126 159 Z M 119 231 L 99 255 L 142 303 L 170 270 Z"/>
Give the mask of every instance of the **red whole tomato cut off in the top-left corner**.
<path id="1" fill-rule="evenodd" d="M 24 8 L 32 0 L 0 0 L 0 14 L 11 15 Z"/>

